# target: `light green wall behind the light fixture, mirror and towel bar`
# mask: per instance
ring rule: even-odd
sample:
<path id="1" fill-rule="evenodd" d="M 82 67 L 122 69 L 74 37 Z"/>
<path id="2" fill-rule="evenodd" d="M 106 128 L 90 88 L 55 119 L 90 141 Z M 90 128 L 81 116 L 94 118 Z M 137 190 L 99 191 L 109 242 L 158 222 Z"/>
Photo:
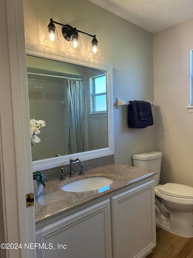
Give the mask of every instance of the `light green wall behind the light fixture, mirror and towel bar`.
<path id="1" fill-rule="evenodd" d="M 87 0 L 56 0 L 54 2 L 24 0 L 26 42 L 50 47 L 59 51 L 68 50 L 68 41 L 57 26 L 61 44 L 47 45 L 43 40 L 49 19 L 70 24 L 89 34 L 96 34 L 102 55 L 97 57 L 113 66 L 113 101 L 153 101 L 153 42 L 152 34 L 138 26 L 100 8 Z M 34 24 L 34 25 L 33 25 Z M 84 49 L 77 52 L 87 55 L 90 38 L 80 34 Z M 114 108 L 115 162 L 132 165 L 134 153 L 155 148 L 154 126 L 145 129 L 127 127 L 127 106 Z M 153 110 L 153 108 L 152 108 Z"/>

